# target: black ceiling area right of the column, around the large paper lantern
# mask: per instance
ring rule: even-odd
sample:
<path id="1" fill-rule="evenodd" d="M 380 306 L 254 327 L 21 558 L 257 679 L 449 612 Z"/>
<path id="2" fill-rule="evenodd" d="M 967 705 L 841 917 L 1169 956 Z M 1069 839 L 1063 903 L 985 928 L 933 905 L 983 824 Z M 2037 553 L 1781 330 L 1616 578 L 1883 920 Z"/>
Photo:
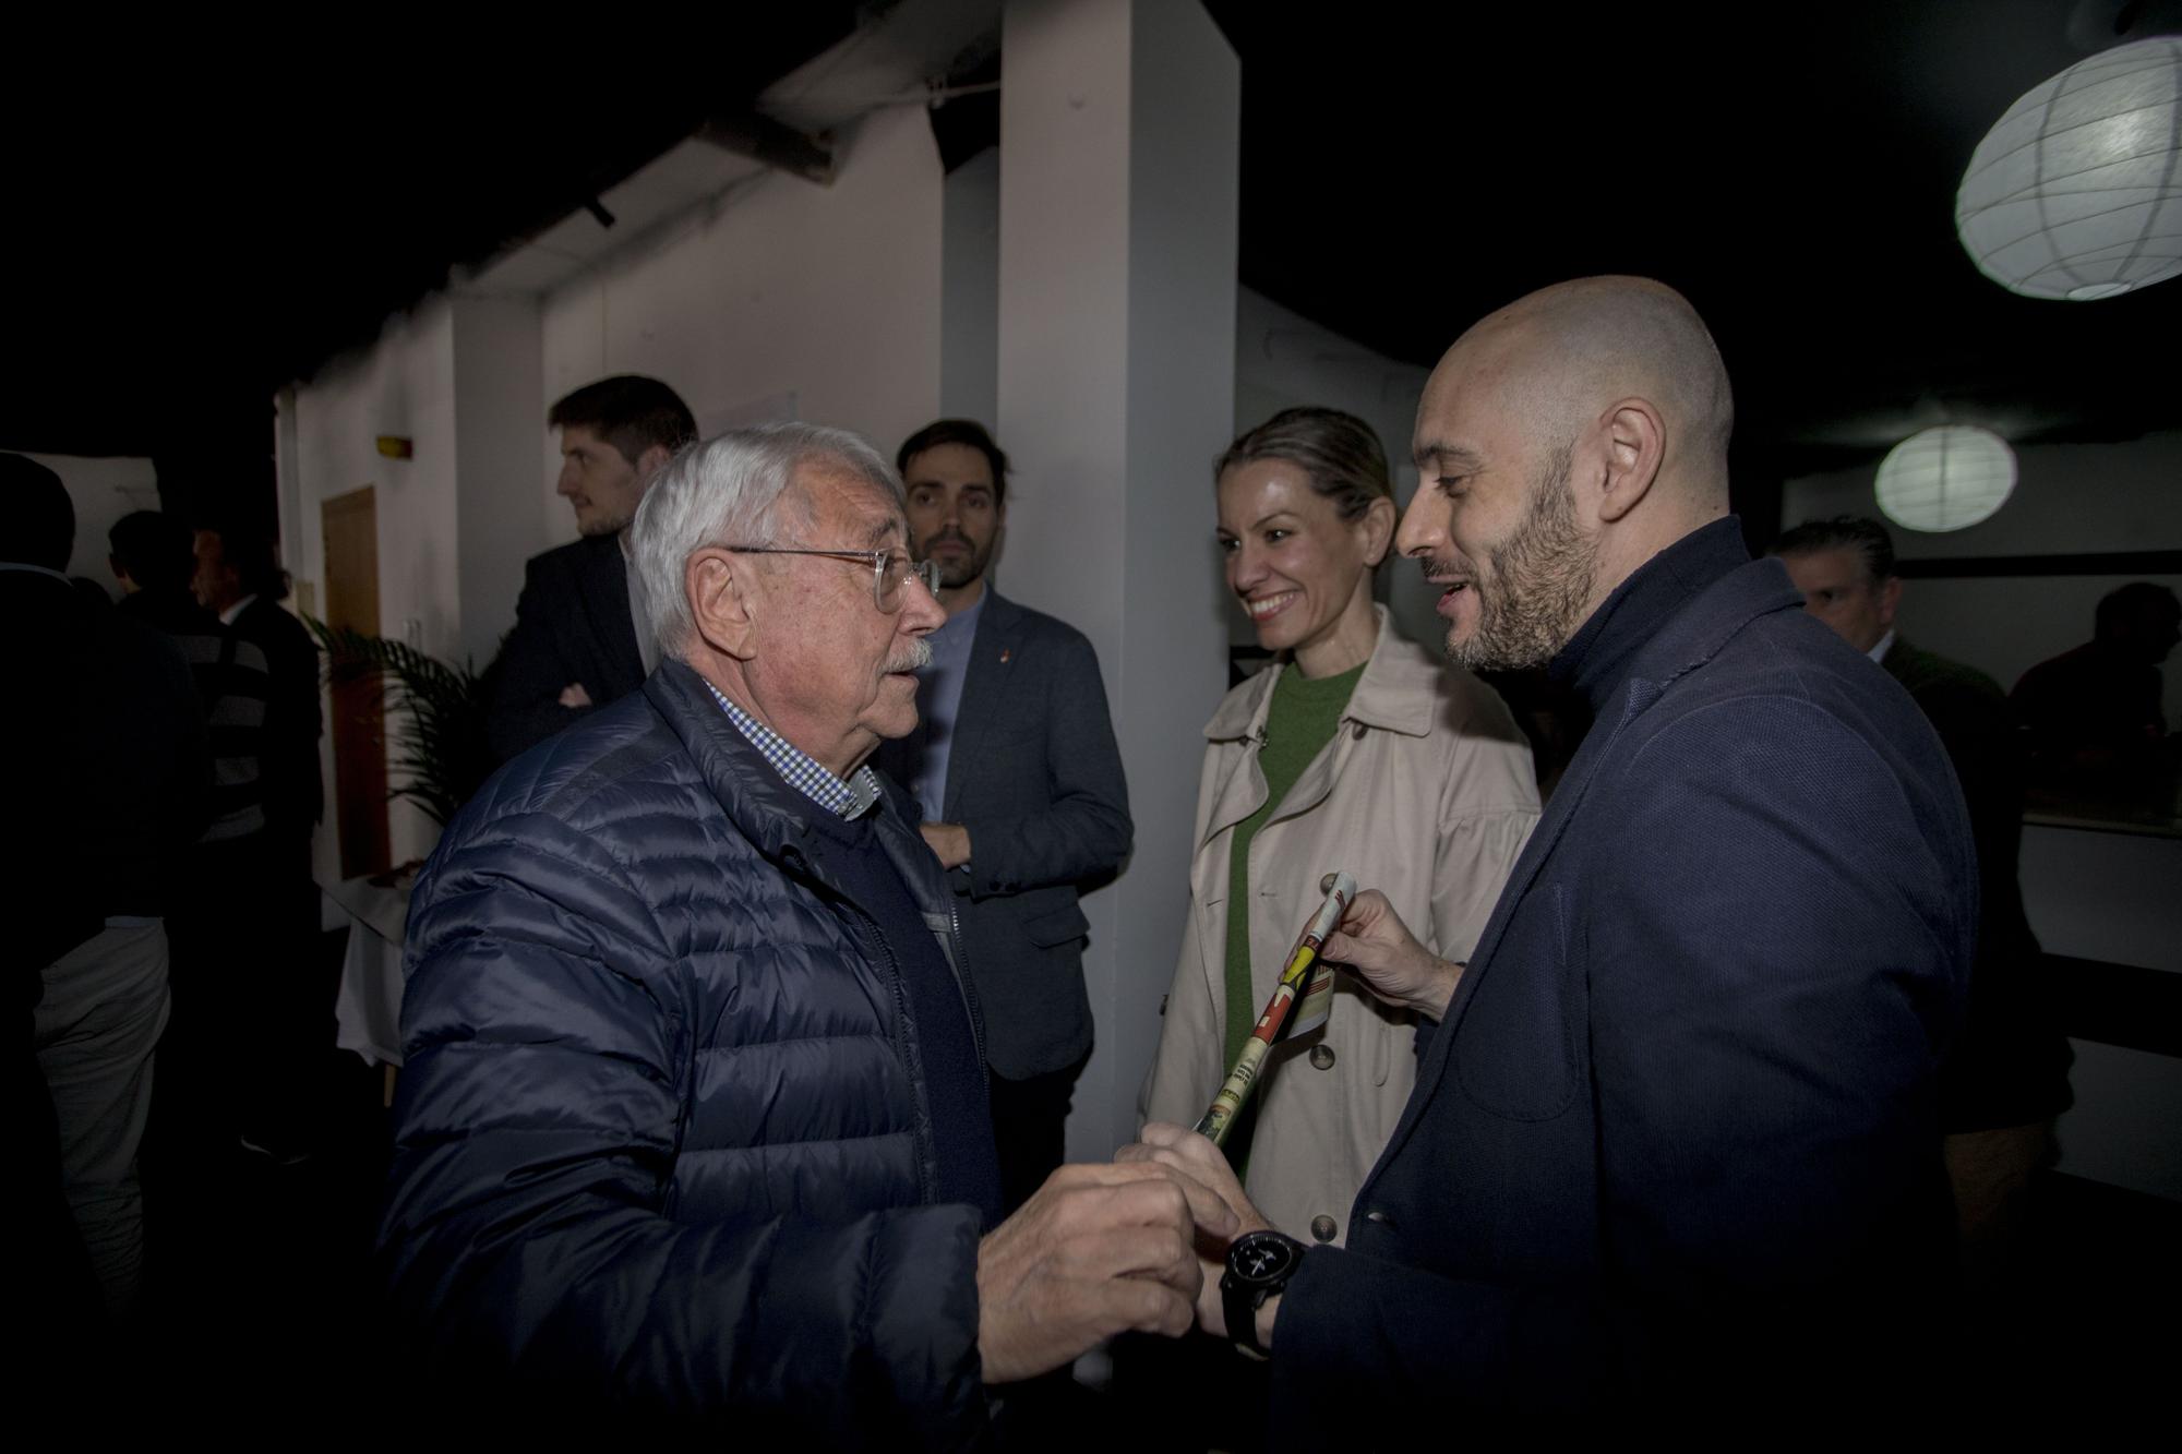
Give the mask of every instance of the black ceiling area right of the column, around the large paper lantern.
<path id="1" fill-rule="evenodd" d="M 2016 96 L 2182 7 L 1209 9 L 1244 61 L 1244 282 L 1386 354 L 1431 365 L 1530 288 L 1647 273 L 1719 338 L 1739 469 L 1859 463 L 1951 419 L 2182 426 L 2182 282 L 2023 299 L 1953 223 Z"/>

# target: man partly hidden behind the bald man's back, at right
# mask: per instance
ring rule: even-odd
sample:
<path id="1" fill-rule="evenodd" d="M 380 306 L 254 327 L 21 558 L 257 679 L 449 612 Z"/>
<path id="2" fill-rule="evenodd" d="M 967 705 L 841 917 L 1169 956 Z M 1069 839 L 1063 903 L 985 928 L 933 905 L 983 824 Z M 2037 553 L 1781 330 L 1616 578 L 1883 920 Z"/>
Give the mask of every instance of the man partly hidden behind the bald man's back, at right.
<path id="1" fill-rule="evenodd" d="M 1931 720 L 1955 766 L 1977 838 L 1977 974 L 1970 1011 L 1940 1078 L 1940 1129 L 1968 1273 L 2005 1264 L 2031 1172 L 2058 1157 L 2053 1120 L 2069 1109 L 2069 1039 L 2038 996 L 2038 939 L 2023 915 L 2023 734 L 1992 677 L 1911 646 L 1894 631 L 1903 583 L 1894 537 L 1877 520 L 1800 524 L 1778 541 L 1805 607 L 1879 662 Z"/>

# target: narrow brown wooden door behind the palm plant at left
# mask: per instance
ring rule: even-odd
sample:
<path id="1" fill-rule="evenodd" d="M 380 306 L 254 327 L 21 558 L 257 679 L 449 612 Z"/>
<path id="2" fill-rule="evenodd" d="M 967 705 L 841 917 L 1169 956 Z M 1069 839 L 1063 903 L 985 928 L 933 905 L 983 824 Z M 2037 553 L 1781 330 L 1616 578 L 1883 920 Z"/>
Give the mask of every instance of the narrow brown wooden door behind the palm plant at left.
<path id="1" fill-rule="evenodd" d="M 380 504 L 371 485 L 319 506 L 325 531 L 325 624 L 380 633 Z M 340 875 L 393 867 L 386 836 L 386 707 L 377 681 L 343 681 L 332 692 L 334 810 Z"/>

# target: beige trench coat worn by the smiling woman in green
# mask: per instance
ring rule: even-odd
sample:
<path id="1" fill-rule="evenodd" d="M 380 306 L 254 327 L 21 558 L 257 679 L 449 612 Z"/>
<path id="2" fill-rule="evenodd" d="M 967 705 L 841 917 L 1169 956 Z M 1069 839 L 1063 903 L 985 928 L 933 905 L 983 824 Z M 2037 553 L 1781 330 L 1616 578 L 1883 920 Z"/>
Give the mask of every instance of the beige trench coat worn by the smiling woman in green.
<path id="1" fill-rule="evenodd" d="M 1257 734 L 1274 679 L 1268 668 L 1237 686 L 1204 727 L 1189 923 L 1143 1120 L 1196 1124 L 1226 1076 L 1228 849 L 1266 801 Z M 1530 747 L 1499 694 L 1396 635 L 1379 607 L 1379 642 L 1333 740 L 1250 843 L 1252 1006 L 1272 996 L 1331 869 L 1386 893 L 1434 954 L 1466 958 L 1536 821 Z M 1250 1201 L 1292 1236 L 1346 1240 L 1348 1205 L 1414 1083 L 1414 1020 L 1342 976 L 1324 1030 L 1266 1059 Z"/>

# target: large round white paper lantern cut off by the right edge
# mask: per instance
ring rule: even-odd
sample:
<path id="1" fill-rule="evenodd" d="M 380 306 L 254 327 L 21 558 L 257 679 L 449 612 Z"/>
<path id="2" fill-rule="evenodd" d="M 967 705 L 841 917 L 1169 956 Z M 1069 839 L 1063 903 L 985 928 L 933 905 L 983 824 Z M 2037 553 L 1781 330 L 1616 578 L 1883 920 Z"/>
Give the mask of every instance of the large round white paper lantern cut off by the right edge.
<path id="1" fill-rule="evenodd" d="M 2007 107 L 1955 192 L 1979 271 L 2090 301 L 2182 273 L 2182 37 L 2077 61 Z"/>

